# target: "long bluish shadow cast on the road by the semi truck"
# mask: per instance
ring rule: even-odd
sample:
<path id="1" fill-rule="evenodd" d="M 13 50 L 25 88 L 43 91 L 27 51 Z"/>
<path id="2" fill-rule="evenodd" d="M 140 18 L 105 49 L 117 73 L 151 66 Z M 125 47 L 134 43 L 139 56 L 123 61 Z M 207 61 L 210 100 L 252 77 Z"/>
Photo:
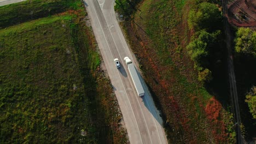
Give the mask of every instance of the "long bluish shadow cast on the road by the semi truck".
<path id="1" fill-rule="evenodd" d="M 152 95 L 150 94 L 145 81 L 142 79 L 141 74 L 138 72 L 136 67 L 135 67 L 135 69 L 136 69 L 139 80 L 141 81 L 142 87 L 145 92 L 144 96 L 139 97 L 139 99 L 141 99 L 143 101 L 144 105 L 147 107 L 148 111 L 152 114 L 152 116 L 155 118 L 155 120 L 158 121 L 158 123 L 163 126 L 164 123 L 162 120 L 161 112 L 156 108 L 156 106 L 154 104 L 154 100 L 152 98 Z"/>

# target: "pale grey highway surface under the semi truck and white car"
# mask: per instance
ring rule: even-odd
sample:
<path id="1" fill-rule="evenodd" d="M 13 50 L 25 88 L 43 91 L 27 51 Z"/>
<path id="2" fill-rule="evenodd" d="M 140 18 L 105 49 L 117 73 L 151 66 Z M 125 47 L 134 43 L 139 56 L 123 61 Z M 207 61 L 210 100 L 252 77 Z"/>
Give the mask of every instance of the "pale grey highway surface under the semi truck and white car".
<path id="1" fill-rule="evenodd" d="M 132 57 L 117 22 L 114 0 L 84 0 L 84 4 L 123 114 L 130 143 L 167 143 L 162 118 L 144 81 L 140 77 L 145 91 L 145 96 L 141 98 L 136 94 L 124 62 L 124 57 L 128 56 L 136 66 L 135 57 Z M 115 67 L 114 58 L 119 59 L 120 69 Z"/>

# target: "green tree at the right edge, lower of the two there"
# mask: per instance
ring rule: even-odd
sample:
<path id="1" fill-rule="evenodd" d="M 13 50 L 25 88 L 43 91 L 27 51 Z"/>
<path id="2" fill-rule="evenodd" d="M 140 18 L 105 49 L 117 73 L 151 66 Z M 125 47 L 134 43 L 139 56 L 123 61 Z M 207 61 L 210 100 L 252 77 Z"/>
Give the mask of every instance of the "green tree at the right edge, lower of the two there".
<path id="1" fill-rule="evenodd" d="M 251 92 L 246 95 L 246 103 L 249 106 L 249 110 L 252 113 L 254 119 L 256 119 L 256 87 L 253 86 Z"/>

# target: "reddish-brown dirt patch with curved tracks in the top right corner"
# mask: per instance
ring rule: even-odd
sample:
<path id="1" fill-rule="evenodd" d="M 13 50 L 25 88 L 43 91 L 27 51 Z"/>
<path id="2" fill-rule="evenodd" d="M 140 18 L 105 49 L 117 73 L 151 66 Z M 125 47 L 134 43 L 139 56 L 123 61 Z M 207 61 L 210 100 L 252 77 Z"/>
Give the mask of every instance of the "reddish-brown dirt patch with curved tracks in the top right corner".
<path id="1" fill-rule="evenodd" d="M 239 27 L 256 26 L 256 1 L 237 0 L 228 5 L 229 22 Z"/>

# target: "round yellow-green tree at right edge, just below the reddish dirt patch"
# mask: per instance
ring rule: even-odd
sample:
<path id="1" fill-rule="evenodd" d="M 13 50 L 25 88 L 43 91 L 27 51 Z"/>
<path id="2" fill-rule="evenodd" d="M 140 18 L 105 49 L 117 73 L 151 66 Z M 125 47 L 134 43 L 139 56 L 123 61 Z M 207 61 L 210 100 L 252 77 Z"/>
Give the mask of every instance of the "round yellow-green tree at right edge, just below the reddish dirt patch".
<path id="1" fill-rule="evenodd" d="M 251 54 L 256 57 L 256 31 L 250 28 L 239 28 L 236 32 L 235 51 Z"/>

